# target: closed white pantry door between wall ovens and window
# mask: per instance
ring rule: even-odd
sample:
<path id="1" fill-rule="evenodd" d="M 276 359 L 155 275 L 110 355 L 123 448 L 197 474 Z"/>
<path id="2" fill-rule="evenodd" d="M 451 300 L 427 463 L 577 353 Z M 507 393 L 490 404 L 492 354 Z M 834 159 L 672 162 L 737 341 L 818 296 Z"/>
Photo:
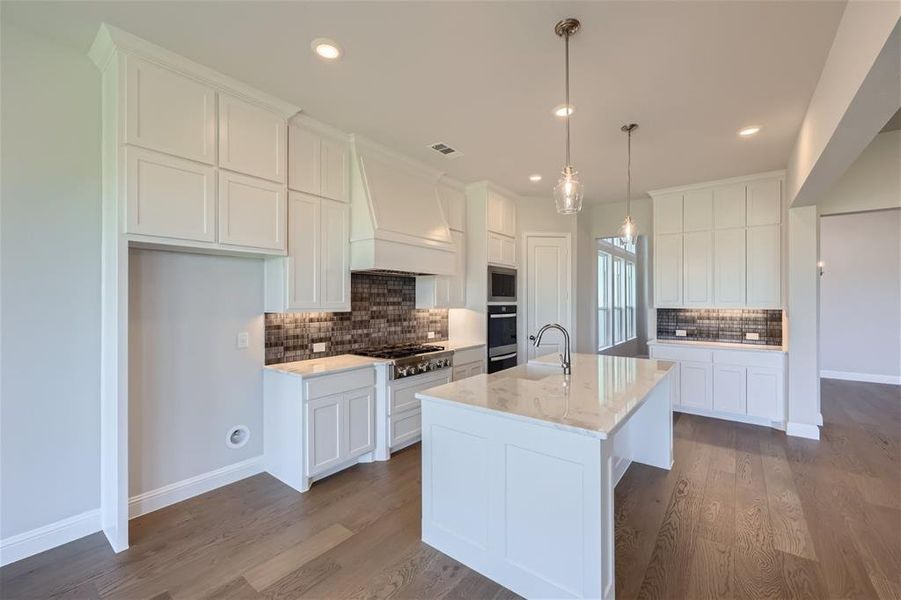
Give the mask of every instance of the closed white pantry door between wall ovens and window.
<path id="1" fill-rule="evenodd" d="M 570 319 L 570 238 L 567 236 L 529 235 L 526 237 L 526 354 L 532 359 L 550 353 L 562 353 L 563 335 L 548 331 L 535 346 L 528 336 L 542 325 L 559 323 L 572 335 Z"/>

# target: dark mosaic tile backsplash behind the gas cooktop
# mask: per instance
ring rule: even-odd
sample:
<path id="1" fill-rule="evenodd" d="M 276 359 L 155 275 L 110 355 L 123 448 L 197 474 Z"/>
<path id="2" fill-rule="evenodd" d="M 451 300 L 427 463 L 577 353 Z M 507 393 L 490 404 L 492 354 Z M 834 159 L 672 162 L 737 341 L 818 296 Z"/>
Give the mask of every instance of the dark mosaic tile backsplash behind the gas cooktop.
<path id="1" fill-rule="evenodd" d="M 416 279 L 352 273 L 350 312 L 266 313 L 266 364 L 447 339 L 447 310 L 416 308 Z M 434 339 L 428 332 L 434 331 Z M 313 354 L 313 344 L 326 342 Z"/>

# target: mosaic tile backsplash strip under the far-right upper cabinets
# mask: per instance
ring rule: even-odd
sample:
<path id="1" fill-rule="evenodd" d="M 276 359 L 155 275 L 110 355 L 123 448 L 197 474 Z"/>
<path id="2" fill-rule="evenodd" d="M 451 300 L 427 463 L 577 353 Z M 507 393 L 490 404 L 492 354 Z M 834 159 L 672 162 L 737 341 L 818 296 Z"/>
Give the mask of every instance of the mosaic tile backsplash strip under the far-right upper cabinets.
<path id="1" fill-rule="evenodd" d="M 676 337 L 684 329 L 686 337 Z M 760 334 L 746 340 L 746 333 Z M 657 337 L 662 340 L 732 342 L 763 346 L 782 345 L 782 311 L 762 309 L 657 309 Z"/>

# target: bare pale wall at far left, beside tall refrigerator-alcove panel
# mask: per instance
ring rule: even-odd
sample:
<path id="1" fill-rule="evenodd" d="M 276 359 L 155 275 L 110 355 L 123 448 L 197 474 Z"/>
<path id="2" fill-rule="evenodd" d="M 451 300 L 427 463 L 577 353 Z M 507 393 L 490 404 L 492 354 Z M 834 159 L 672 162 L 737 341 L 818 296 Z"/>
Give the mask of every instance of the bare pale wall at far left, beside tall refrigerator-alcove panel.
<path id="1" fill-rule="evenodd" d="M 2 20 L 0 537 L 100 505 L 100 75 Z"/>

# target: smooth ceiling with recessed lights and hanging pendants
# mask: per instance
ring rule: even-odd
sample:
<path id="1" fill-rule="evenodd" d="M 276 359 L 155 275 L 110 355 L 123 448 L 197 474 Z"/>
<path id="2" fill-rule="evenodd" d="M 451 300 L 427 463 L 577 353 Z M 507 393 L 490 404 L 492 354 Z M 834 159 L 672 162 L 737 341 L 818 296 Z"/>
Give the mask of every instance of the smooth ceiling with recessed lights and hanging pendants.
<path id="1" fill-rule="evenodd" d="M 87 51 L 102 21 L 464 181 L 549 196 L 563 162 L 562 17 L 573 163 L 586 202 L 784 168 L 844 2 L 2 2 Z M 326 63 L 316 37 L 344 56 Z M 746 125 L 762 131 L 736 135 Z M 444 158 L 444 142 L 463 153 Z M 540 173 L 543 181 L 529 182 Z"/>

